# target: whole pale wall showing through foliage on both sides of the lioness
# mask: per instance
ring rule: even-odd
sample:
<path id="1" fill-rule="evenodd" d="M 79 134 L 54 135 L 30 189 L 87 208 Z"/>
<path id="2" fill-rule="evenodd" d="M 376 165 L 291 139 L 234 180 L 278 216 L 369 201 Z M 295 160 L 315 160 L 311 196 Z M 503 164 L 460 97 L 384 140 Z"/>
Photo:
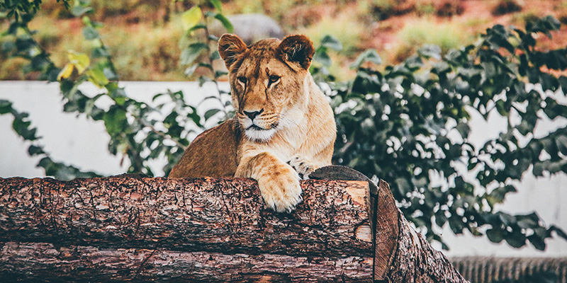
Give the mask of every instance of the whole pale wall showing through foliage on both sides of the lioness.
<path id="1" fill-rule="evenodd" d="M 149 102 L 153 95 L 169 88 L 182 90 L 191 103 L 198 103 L 207 90 L 198 88 L 193 82 L 124 82 L 129 96 Z M 226 86 L 224 86 L 226 87 Z M 85 93 L 98 93 L 94 86 L 82 87 Z M 40 81 L 0 81 L 0 99 L 13 102 L 13 107 L 20 112 L 29 112 L 30 120 L 38 128 L 38 135 L 43 137 L 42 144 L 55 161 L 64 161 L 86 171 L 96 171 L 103 175 L 123 173 L 126 166 L 120 166 L 120 157 L 108 153 L 108 134 L 103 122 L 87 120 L 83 116 L 62 112 L 62 98 L 57 83 Z M 205 105 L 206 106 L 206 105 Z M 206 109 L 200 109 L 204 111 Z M 28 156 L 28 144 L 23 142 L 11 129 L 11 116 L 0 116 L 0 177 L 22 176 L 41 177 L 43 170 L 35 168 L 38 158 Z M 547 121 L 537 125 L 537 135 L 545 134 L 556 127 L 566 127 L 565 120 Z M 471 141 L 478 145 L 495 137 L 505 127 L 502 121 L 491 117 L 488 122 L 480 117 L 471 122 Z M 156 173 L 164 164 L 154 164 Z M 554 175 L 549 178 L 534 178 L 526 173 L 520 184 L 519 192 L 509 194 L 501 210 L 510 213 L 537 212 L 546 224 L 555 224 L 567 230 L 567 176 Z M 528 246 L 514 249 L 505 243 L 490 243 L 487 238 L 475 238 L 471 235 L 454 236 L 448 227 L 444 236 L 451 250 L 449 256 L 494 255 L 527 257 L 565 257 L 567 241 L 554 238 L 547 241 L 548 248 L 540 252 Z"/>

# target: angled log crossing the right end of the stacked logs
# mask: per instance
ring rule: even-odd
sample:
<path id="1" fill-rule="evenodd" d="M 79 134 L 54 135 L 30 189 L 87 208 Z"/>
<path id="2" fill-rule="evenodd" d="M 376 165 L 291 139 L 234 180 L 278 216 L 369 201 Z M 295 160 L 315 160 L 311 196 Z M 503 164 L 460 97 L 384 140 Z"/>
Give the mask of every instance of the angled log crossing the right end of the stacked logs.
<path id="1" fill-rule="evenodd" d="M 362 173 L 344 166 L 323 167 L 310 176 L 369 183 L 375 282 L 466 282 L 441 252 L 412 229 L 384 180 L 376 186 Z"/>

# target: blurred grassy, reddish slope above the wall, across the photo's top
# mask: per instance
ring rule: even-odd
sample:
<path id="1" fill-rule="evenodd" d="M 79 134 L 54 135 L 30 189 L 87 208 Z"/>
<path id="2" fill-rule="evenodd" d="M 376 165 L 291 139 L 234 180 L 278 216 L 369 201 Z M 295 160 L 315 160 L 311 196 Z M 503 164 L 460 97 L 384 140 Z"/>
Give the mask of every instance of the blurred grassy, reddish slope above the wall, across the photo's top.
<path id="1" fill-rule="evenodd" d="M 93 21 L 103 23 L 100 33 L 115 58 L 123 81 L 186 81 L 179 64 L 179 40 L 184 34 L 181 14 L 193 1 L 127 0 L 92 1 Z M 439 45 L 443 51 L 478 40 L 478 34 L 495 24 L 524 26 L 527 20 L 553 15 L 567 23 L 567 1 L 561 0 L 231 0 L 223 1 L 223 13 L 247 37 L 265 36 L 281 28 L 282 34 L 308 35 L 318 46 L 322 37 L 332 34 L 343 49 L 330 52 L 331 74 L 338 81 L 352 79 L 349 68 L 357 55 L 374 48 L 383 66 L 397 64 L 415 54 L 425 43 Z M 251 13 L 267 16 L 257 18 Z M 271 21 L 275 22 L 271 22 Z M 272 25 L 275 23 L 276 26 Z M 2 22 L 4 27 L 8 25 Z M 242 27 L 246 25 L 254 28 Z M 40 30 L 39 42 L 62 66 L 67 50 L 86 52 L 90 46 L 82 39 L 82 20 L 72 16 L 56 1 L 45 1 L 30 22 Z M 239 31 L 239 30 L 236 30 Z M 541 47 L 564 47 L 567 26 L 553 40 L 542 39 Z M 249 35 L 252 33 L 252 35 Z M 0 54 L 0 79 L 35 79 L 23 74 L 21 59 Z"/>

